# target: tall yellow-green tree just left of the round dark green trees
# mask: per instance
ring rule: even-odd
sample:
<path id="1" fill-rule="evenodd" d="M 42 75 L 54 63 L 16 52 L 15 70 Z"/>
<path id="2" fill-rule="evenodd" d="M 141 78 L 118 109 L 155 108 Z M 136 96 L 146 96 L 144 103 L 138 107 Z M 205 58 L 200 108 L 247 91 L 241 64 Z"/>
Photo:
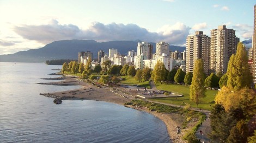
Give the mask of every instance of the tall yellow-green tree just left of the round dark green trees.
<path id="1" fill-rule="evenodd" d="M 156 62 L 151 76 L 153 77 L 155 84 L 159 82 L 162 84 L 162 80 L 166 78 L 166 68 L 164 67 L 163 62 Z"/>

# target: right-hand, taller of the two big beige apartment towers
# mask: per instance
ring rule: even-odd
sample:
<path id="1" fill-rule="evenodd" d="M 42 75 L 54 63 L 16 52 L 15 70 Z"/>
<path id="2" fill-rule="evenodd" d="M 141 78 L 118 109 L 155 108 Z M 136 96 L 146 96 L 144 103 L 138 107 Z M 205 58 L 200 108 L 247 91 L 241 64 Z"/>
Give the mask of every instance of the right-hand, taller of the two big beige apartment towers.
<path id="1" fill-rule="evenodd" d="M 211 72 L 227 72 L 229 57 L 236 53 L 238 42 L 239 38 L 236 38 L 234 29 L 227 29 L 225 25 L 221 25 L 218 29 L 211 30 Z"/>

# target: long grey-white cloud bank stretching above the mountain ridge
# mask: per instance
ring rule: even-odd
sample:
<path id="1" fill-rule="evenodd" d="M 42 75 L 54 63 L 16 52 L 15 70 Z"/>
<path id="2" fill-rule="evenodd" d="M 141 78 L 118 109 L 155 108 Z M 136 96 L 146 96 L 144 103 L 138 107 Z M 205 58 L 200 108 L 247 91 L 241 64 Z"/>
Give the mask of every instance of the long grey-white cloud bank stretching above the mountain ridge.
<path id="1" fill-rule="evenodd" d="M 158 32 L 150 32 L 136 24 L 94 22 L 86 30 L 83 30 L 73 24 L 59 24 L 58 21 L 53 19 L 49 24 L 21 25 L 15 27 L 14 30 L 25 39 L 44 44 L 72 39 L 96 40 L 99 42 L 139 39 L 148 42 L 166 41 L 181 45 L 185 43 L 190 28 L 177 22 L 174 25 L 164 25 Z"/>

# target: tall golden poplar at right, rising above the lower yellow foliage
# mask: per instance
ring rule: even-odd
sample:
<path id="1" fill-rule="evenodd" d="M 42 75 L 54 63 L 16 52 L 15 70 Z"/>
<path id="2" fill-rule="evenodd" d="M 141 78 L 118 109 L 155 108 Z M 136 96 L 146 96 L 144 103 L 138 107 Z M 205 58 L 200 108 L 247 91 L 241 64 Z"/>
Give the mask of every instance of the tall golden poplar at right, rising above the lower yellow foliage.
<path id="1" fill-rule="evenodd" d="M 252 83 L 247 53 L 241 42 L 237 44 L 236 54 L 230 57 L 227 76 L 227 86 L 233 89 L 234 92 L 243 87 L 250 87 Z"/>

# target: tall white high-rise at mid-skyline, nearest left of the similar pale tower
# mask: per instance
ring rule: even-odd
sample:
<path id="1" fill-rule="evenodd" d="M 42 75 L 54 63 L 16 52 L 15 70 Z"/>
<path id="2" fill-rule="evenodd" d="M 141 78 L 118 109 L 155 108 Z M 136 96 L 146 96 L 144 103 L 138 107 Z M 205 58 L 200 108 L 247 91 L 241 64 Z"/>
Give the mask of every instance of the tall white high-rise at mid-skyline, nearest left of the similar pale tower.
<path id="1" fill-rule="evenodd" d="M 144 56 L 144 60 L 152 59 L 153 45 L 148 42 L 138 42 L 137 55 Z"/>

